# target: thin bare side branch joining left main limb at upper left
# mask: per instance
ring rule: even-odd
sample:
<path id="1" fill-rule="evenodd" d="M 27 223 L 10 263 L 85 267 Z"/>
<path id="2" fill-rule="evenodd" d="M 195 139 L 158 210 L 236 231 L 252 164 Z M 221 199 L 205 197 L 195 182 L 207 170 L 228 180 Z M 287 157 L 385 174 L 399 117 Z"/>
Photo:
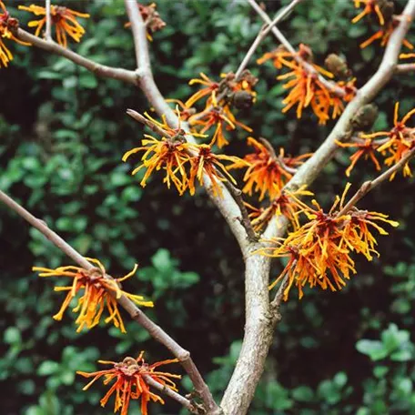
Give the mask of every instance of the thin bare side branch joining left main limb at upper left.
<path id="1" fill-rule="evenodd" d="M 64 56 L 66 59 L 74 62 L 74 64 L 85 67 L 88 71 L 91 71 L 96 76 L 118 79 L 120 81 L 127 82 L 128 84 L 134 84 L 136 86 L 138 84 L 139 73 L 136 71 L 129 71 L 119 67 L 97 64 L 96 62 L 90 59 L 86 59 L 86 57 L 80 56 L 72 50 L 68 50 L 55 42 L 48 42 L 44 39 L 36 37 L 35 35 L 31 35 L 21 28 L 17 28 L 17 30 L 14 31 L 14 35 L 19 40 L 32 44 L 32 46 L 39 47 L 40 49 L 44 49 L 47 52 L 55 55 Z"/>

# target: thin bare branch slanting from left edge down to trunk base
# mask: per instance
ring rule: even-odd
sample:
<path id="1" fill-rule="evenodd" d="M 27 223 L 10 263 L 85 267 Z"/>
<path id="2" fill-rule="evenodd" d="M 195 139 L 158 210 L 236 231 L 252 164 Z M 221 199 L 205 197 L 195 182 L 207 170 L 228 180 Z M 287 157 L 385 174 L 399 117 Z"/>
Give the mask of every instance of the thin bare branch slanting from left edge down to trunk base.
<path id="1" fill-rule="evenodd" d="M 59 248 L 64 254 L 69 258 L 72 258 L 80 267 L 84 269 L 94 268 L 86 258 L 84 258 L 76 249 L 72 248 L 63 238 L 59 237 L 52 229 L 48 228 L 46 223 L 43 220 L 35 218 L 25 207 L 22 207 L 15 202 L 11 197 L 8 197 L 3 191 L 0 190 L 0 202 L 5 203 L 7 207 L 10 207 L 14 210 L 21 218 L 24 218 L 25 221 L 29 222 L 34 228 L 39 230 L 43 235 L 46 236 L 57 248 Z M 109 277 L 109 276 L 108 276 Z M 130 299 L 127 299 L 126 296 L 121 296 L 120 299 L 116 299 L 118 304 L 127 311 L 132 319 L 137 321 L 137 323 L 146 329 L 148 333 L 157 340 L 159 343 L 163 344 L 171 353 L 179 360 L 180 364 L 186 370 L 187 375 L 197 391 L 197 394 L 200 395 L 201 399 L 205 402 L 207 410 L 211 410 L 216 407 L 216 403 L 213 400 L 210 391 L 207 388 L 205 381 L 200 375 L 195 363 L 190 357 L 190 353 L 183 349 L 175 339 L 172 339 L 163 329 L 157 326 L 151 319 L 148 319 L 146 314 L 138 309 L 136 304 L 134 304 Z M 212 403 L 213 402 L 213 403 Z M 215 412 L 210 412 L 212 415 Z"/>

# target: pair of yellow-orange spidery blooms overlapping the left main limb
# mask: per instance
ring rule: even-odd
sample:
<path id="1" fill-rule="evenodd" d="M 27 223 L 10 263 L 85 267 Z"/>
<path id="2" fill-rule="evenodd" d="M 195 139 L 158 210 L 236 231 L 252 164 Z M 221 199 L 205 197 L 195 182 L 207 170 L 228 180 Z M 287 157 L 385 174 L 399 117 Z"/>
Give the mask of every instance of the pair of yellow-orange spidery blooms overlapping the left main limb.
<path id="1" fill-rule="evenodd" d="M 144 151 L 141 157 L 141 164 L 136 167 L 132 174 L 137 174 L 142 168 L 146 173 L 140 184 L 145 187 L 147 179 L 154 170 L 166 172 L 164 182 L 170 188 L 171 183 L 182 195 L 187 189 L 190 194 L 195 193 L 195 184 L 198 180 L 200 185 L 204 183 L 204 174 L 210 179 L 211 187 L 215 195 L 221 196 L 222 190 L 218 186 L 219 181 L 231 181 L 236 183 L 223 165 L 224 161 L 238 163 L 238 157 L 216 155 L 207 145 L 197 145 L 187 142 L 186 133 L 179 126 L 176 129 L 167 125 L 166 119 L 160 123 L 146 113 L 147 118 L 163 132 L 163 137 L 157 139 L 145 135 L 142 140 L 142 147 L 133 148 L 123 156 L 123 161 L 133 154 Z"/>

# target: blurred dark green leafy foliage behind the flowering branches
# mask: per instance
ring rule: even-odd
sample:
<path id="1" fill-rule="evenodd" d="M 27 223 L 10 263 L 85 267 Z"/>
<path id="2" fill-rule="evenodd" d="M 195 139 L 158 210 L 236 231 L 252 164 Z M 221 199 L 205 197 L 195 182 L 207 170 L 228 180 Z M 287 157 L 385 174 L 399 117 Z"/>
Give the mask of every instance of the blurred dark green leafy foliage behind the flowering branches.
<path id="1" fill-rule="evenodd" d="M 270 15 L 286 3 L 265 2 Z M 6 5 L 16 12 L 17 2 Z M 71 47 L 100 63 L 135 67 L 122 2 L 65 5 L 91 15 L 81 44 Z M 157 5 L 167 27 L 154 35 L 152 61 L 160 90 L 169 98 L 186 99 L 194 91 L 187 81 L 199 72 L 218 77 L 236 70 L 261 26 L 243 1 Z M 403 5 L 397 2 L 398 11 Z M 15 15 L 27 23 L 28 15 Z M 368 21 L 351 25 L 353 15 L 352 2 L 314 0 L 299 5 L 280 27 L 294 46 L 311 46 L 318 64 L 331 52 L 343 54 L 361 86 L 379 65 L 382 50 L 378 45 L 359 49 L 374 28 Z M 415 41 L 415 35 L 409 39 Z M 256 57 L 273 47 L 269 36 Z M 219 399 L 238 358 L 244 321 L 243 264 L 224 220 L 203 191 L 179 197 L 157 175 L 143 191 L 138 178 L 129 175 L 131 166 L 121 157 L 137 146 L 143 128 L 125 111 L 147 109 L 139 90 L 35 48 L 11 48 L 15 60 L 0 72 L 0 188 L 82 254 L 100 258 L 113 275 L 124 275 L 138 262 L 127 290 L 155 300 L 148 314 L 191 350 Z M 254 128 L 255 137 L 268 137 L 290 154 L 319 147 L 333 122 L 319 127 L 309 110 L 301 120 L 293 112 L 282 115 L 284 90 L 273 66 L 252 62 L 249 68 L 260 79 L 258 102 L 238 119 Z M 396 100 L 402 113 L 413 107 L 414 95 L 413 74 L 394 77 L 376 98 L 376 127 L 388 127 Z M 225 151 L 243 156 L 246 137 L 237 132 Z M 329 207 L 344 187 L 348 164 L 349 152 L 339 152 L 312 186 L 323 206 Z M 374 174 L 370 164 L 359 163 L 350 177 L 353 188 Z M 400 228 L 379 239 L 380 259 L 357 258 L 359 274 L 342 292 L 306 290 L 301 301 L 294 294 L 283 305 L 250 413 L 415 413 L 412 185 L 412 179 L 399 176 L 361 203 L 400 221 Z M 147 359 L 168 359 L 167 350 L 132 322 L 121 336 L 105 326 L 76 334 L 70 313 L 62 322 L 52 319 L 62 297 L 53 292 L 55 281 L 36 278 L 31 267 L 71 261 L 5 207 L 0 212 L 2 413 L 112 412 L 110 406 L 99 408 L 102 385 L 81 391 L 85 381 L 77 379 L 76 369 L 93 370 L 97 359 L 135 356 L 141 349 Z M 275 264 L 273 275 L 280 267 Z M 177 365 L 173 371 L 181 369 Z M 181 386 L 189 388 L 186 377 Z M 134 404 L 132 410 L 139 412 Z M 179 411 L 171 401 L 151 407 L 152 414 Z"/>

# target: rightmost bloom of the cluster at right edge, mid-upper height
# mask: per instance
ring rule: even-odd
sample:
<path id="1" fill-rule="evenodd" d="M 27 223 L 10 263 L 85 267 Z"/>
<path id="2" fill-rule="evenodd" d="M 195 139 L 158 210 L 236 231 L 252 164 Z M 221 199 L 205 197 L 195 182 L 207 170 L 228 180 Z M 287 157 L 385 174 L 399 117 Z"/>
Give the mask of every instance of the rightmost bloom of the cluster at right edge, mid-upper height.
<path id="1" fill-rule="evenodd" d="M 386 137 L 377 143 L 379 144 L 377 149 L 382 155 L 387 152 L 390 154 L 390 157 L 385 159 L 386 166 L 397 164 L 404 154 L 415 146 L 415 128 L 407 127 L 406 125 L 410 117 L 415 114 L 415 108 L 403 116 L 400 121 L 398 120 L 399 109 L 400 103 L 397 102 L 393 116 L 394 127 L 390 131 L 379 131 L 377 133 L 361 135 L 361 137 L 367 139 Z M 395 175 L 396 172 L 390 176 L 390 180 L 393 180 Z M 409 163 L 403 167 L 403 176 L 411 176 Z"/>

